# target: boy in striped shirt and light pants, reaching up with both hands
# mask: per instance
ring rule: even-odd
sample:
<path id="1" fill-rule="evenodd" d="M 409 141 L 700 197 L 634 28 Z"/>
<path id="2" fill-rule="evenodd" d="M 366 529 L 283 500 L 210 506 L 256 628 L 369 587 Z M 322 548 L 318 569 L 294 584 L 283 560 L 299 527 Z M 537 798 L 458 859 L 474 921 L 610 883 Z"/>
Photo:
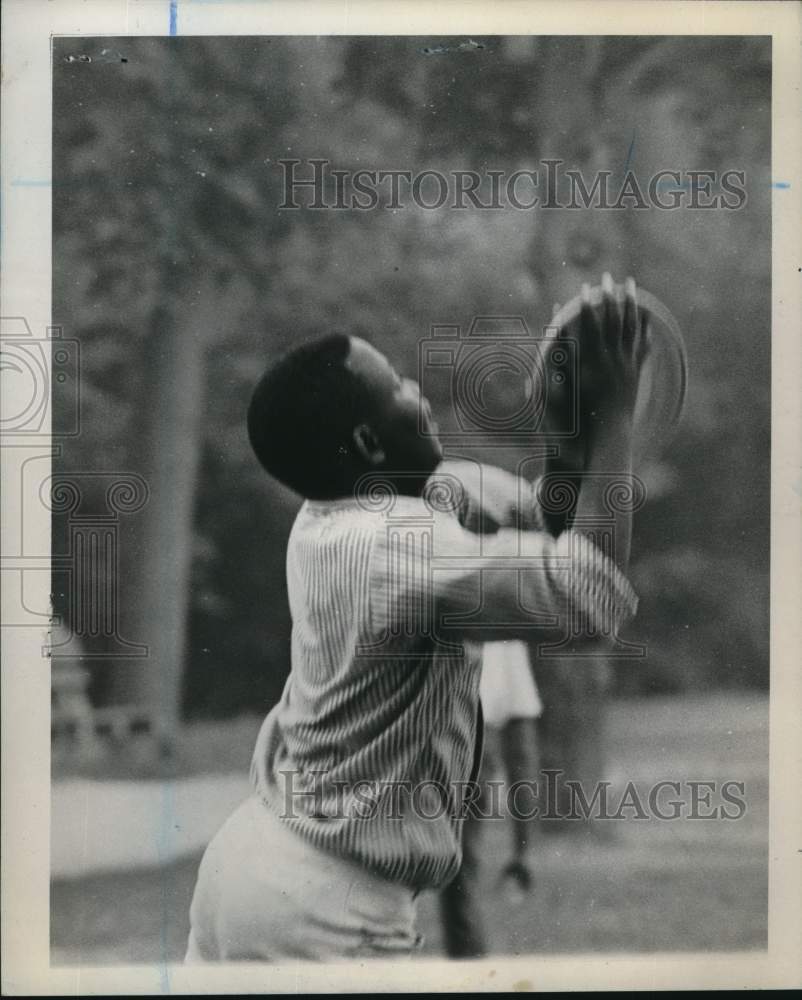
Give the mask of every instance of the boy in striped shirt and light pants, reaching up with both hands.
<path id="1" fill-rule="evenodd" d="M 601 307 L 584 291 L 567 332 L 581 338 L 588 470 L 627 475 L 647 330 L 634 282 L 623 305 L 609 276 L 603 286 Z M 447 509 L 454 477 L 438 469 L 429 404 L 355 337 L 272 367 L 248 430 L 265 469 L 306 498 L 287 548 L 291 671 L 257 740 L 254 794 L 201 863 L 187 961 L 410 955 L 416 896 L 460 865 L 481 754 L 479 644 L 556 638 L 569 615 L 616 629 L 636 607 L 631 513 L 613 514 L 613 561 L 579 527 L 544 531 L 529 484 L 486 501 L 463 483 L 452 508 L 490 502 L 498 524 L 517 508 L 519 527 L 472 534 Z M 608 486 L 583 480 L 578 526 L 609 520 Z"/>

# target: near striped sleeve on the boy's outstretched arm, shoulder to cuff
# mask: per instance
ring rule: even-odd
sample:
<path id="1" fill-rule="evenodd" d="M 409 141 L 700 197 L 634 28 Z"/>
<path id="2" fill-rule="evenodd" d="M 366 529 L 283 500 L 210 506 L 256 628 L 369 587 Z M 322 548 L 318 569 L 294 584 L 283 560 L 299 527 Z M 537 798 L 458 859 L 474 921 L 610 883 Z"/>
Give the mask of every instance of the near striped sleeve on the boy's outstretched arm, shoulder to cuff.
<path id="1" fill-rule="evenodd" d="M 475 534 L 454 512 L 410 498 L 377 529 L 370 605 L 378 634 L 537 641 L 544 630 L 613 636 L 635 614 L 637 597 L 579 532 L 553 538 L 519 526 Z"/>

